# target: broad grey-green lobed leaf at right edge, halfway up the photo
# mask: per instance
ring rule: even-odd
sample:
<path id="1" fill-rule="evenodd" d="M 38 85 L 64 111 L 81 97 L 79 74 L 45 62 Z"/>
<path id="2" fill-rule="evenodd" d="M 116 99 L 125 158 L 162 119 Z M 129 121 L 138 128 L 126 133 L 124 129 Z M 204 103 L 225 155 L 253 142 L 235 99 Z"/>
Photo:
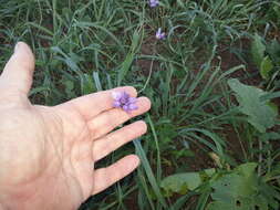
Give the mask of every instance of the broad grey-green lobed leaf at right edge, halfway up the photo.
<path id="1" fill-rule="evenodd" d="M 228 85 L 236 93 L 239 109 L 247 115 L 247 120 L 260 133 L 265 133 L 276 124 L 277 112 L 269 105 L 269 101 L 261 99 L 267 92 L 240 83 L 237 78 L 228 81 Z"/>

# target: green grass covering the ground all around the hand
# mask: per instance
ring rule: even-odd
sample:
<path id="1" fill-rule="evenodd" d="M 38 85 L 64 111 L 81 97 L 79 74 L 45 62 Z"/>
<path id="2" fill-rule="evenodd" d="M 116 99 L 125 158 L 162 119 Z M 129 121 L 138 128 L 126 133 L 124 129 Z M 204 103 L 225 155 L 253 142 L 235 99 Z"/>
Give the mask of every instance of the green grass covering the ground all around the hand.
<path id="1" fill-rule="evenodd" d="M 249 45 L 255 33 L 279 38 L 276 17 L 277 0 L 162 0 L 154 9 L 146 0 L 2 0 L 0 69 L 21 40 L 37 56 L 34 103 L 55 105 L 120 85 L 151 98 L 144 116 L 148 134 L 102 162 L 135 150 L 142 166 L 81 209 L 200 210 L 211 201 L 207 180 L 176 196 L 166 195 L 162 180 L 212 167 L 219 177 L 255 161 L 259 177 L 279 191 L 278 130 L 259 137 L 227 85 L 230 77 L 262 84 Z M 159 27 L 167 33 L 164 41 L 155 39 Z"/>

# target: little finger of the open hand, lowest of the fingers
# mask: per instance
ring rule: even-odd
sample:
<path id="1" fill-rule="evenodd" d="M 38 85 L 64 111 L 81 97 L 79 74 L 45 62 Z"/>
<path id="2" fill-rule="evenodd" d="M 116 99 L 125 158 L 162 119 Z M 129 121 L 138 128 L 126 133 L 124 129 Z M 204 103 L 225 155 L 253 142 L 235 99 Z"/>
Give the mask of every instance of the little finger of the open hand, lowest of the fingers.
<path id="1" fill-rule="evenodd" d="M 136 155 L 129 155 L 107 168 L 101 168 L 93 175 L 93 191 L 96 195 L 125 176 L 129 175 L 139 165 L 139 158 Z"/>

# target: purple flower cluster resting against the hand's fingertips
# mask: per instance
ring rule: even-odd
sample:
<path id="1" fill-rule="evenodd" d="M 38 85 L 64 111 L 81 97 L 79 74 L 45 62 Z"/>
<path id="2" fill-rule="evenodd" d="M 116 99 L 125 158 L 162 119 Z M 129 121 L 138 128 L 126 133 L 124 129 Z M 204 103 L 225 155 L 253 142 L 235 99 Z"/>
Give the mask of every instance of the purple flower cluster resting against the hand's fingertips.
<path id="1" fill-rule="evenodd" d="M 136 105 L 137 99 L 135 97 L 131 97 L 125 92 L 113 92 L 112 96 L 114 98 L 113 106 L 116 108 L 123 108 L 126 113 L 138 108 Z"/>

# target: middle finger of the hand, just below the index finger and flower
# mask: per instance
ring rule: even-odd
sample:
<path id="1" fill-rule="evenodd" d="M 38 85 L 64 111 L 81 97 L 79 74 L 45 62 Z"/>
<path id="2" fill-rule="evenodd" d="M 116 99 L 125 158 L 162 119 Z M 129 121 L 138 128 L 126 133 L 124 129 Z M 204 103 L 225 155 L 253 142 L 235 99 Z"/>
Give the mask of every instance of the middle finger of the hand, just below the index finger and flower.
<path id="1" fill-rule="evenodd" d="M 113 108 L 94 117 L 87 124 L 92 133 L 92 137 L 94 139 L 100 138 L 101 136 L 113 130 L 118 125 L 122 125 L 126 120 L 137 115 L 146 113 L 151 108 L 151 102 L 147 97 L 137 98 L 136 104 L 138 108 L 131 113 L 126 113 L 121 108 Z"/>

